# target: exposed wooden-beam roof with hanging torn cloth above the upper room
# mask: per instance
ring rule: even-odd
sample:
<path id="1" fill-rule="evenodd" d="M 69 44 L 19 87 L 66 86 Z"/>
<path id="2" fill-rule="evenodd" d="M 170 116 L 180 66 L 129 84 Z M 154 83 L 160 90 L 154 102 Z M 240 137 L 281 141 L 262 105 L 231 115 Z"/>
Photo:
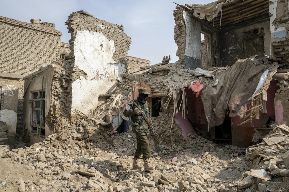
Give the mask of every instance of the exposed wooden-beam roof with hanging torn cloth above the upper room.
<path id="1" fill-rule="evenodd" d="M 219 0 L 207 5 L 179 6 L 197 19 L 202 19 L 203 24 L 216 30 L 246 23 L 252 24 L 256 21 L 263 22 L 270 18 L 268 0 Z"/>

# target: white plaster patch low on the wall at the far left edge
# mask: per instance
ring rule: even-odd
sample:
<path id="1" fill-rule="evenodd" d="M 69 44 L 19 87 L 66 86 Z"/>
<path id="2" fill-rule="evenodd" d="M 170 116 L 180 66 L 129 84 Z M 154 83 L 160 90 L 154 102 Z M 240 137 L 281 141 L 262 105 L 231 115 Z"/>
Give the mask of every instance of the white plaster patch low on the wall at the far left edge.
<path id="1" fill-rule="evenodd" d="M 0 111 L 0 121 L 5 122 L 9 134 L 16 134 L 17 113 L 13 110 L 4 109 Z"/>

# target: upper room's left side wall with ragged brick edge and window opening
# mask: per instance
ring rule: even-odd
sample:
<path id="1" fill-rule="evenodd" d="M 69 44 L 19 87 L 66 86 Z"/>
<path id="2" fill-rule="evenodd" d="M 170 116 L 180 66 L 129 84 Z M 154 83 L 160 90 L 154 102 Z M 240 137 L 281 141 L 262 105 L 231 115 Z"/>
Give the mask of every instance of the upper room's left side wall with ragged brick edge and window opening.
<path id="1" fill-rule="evenodd" d="M 219 54 L 219 33 L 213 28 L 208 28 L 199 22 L 190 13 L 187 13 L 179 5 L 174 10 L 175 28 L 174 39 L 178 46 L 176 56 L 181 64 L 188 69 L 211 68 L 221 66 Z M 204 55 L 207 55 L 207 62 L 202 62 L 201 33 L 206 34 L 207 46 Z"/>

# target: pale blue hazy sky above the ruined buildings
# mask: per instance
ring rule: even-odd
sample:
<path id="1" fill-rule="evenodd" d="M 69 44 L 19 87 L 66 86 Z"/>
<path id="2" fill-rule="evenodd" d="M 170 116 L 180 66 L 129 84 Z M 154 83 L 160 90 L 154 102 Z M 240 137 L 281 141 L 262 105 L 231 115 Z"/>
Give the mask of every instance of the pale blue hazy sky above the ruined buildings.
<path id="1" fill-rule="evenodd" d="M 164 55 L 176 57 L 174 17 L 178 4 L 207 4 L 212 0 L 1 0 L 0 15 L 24 22 L 31 18 L 55 23 L 63 33 L 62 41 L 68 43 L 65 21 L 72 12 L 85 10 L 94 17 L 124 26 L 124 32 L 132 38 L 128 55 L 148 59 L 151 64 L 160 63 Z"/>

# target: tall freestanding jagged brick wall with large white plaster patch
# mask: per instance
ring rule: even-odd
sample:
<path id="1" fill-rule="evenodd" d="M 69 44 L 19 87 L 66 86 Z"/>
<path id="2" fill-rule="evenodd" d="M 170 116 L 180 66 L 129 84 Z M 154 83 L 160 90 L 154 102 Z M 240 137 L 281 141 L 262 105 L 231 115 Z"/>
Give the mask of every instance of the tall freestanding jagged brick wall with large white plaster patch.
<path id="1" fill-rule="evenodd" d="M 72 13 L 66 21 L 71 33 L 69 54 L 72 71 L 71 114 L 89 113 L 127 71 L 131 38 L 123 26 L 112 24 L 85 11 Z M 81 94 L 80 94 L 81 93 Z M 85 106 L 85 107 L 83 107 Z"/>

